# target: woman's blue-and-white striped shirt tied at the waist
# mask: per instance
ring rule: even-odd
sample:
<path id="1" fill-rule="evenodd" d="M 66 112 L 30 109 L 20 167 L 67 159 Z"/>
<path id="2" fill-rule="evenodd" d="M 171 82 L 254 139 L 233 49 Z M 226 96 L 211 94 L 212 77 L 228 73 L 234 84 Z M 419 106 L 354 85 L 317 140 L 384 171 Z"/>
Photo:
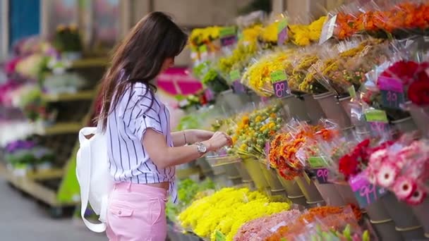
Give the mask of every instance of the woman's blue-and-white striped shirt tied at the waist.
<path id="1" fill-rule="evenodd" d="M 141 141 L 147 128 L 152 128 L 164 135 L 167 145 L 173 147 L 167 107 L 142 83 L 128 88 L 120 98 L 107 121 L 111 175 L 116 183 L 169 182 L 169 194 L 176 203 L 175 167 L 158 168 Z"/>

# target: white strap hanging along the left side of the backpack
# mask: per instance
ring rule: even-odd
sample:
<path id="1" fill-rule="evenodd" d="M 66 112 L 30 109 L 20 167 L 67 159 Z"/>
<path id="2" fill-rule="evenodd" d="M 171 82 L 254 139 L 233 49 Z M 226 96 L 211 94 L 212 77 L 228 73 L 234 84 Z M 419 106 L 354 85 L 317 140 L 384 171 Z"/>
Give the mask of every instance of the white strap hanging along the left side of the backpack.
<path id="1" fill-rule="evenodd" d="M 76 161 L 77 166 L 80 168 L 80 173 L 76 169 L 76 176 L 78 177 L 78 182 L 80 184 L 80 216 L 82 217 L 83 222 L 95 233 L 103 233 L 106 230 L 105 223 L 91 223 L 85 218 L 85 211 L 87 209 L 87 204 L 90 199 L 90 183 L 91 183 L 91 141 L 87 138 L 88 135 L 97 135 L 97 128 L 83 128 L 79 132 L 79 142 L 80 149 L 77 154 Z"/>

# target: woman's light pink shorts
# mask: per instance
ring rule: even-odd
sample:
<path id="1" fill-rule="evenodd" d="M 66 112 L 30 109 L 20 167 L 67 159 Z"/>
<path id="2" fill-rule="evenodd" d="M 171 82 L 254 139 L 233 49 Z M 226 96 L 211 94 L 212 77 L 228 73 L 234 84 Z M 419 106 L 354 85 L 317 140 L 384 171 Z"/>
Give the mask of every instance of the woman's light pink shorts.
<path id="1" fill-rule="evenodd" d="M 167 190 L 118 183 L 110 194 L 107 237 L 111 241 L 165 241 Z"/>

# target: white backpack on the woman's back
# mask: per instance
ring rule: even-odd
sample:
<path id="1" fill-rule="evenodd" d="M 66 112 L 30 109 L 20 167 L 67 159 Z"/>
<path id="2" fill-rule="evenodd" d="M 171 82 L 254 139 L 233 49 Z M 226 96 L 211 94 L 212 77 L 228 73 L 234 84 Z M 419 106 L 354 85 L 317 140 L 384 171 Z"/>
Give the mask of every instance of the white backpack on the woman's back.
<path id="1" fill-rule="evenodd" d="M 88 135 L 93 136 L 88 139 Z M 93 232 L 102 233 L 106 230 L 107 205 L 114 185 L 114 180 L 109 173 L 106 137 L 99 128 L 82 128 L 79 131 L 79 142 L 76 176 L 82 200 L 80 216 L 87 228 Z M 91 223 L 85 218 L 88 202 L 95 214 L 99 215 L 101 223 Z"/>

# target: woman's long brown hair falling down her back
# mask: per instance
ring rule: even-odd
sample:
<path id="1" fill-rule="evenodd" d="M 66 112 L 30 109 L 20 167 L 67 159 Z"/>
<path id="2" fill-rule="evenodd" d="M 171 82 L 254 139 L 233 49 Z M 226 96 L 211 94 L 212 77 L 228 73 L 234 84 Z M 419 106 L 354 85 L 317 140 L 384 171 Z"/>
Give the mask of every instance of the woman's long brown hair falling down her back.
<path id="1" fill-rule="evenodd" d="M 97 118 L 102 131 L 107 129 L 109 113 L 128 87 L 141 82 L 153 95 L 156 87 L 151 81 L 161 71 L 164 60 L 179 55 L 187 41 L 186 33 L 166 13 L 149 13 L 133 27 L 116 47 L 111 67 L 102 80 L 102 106 Z"/>

